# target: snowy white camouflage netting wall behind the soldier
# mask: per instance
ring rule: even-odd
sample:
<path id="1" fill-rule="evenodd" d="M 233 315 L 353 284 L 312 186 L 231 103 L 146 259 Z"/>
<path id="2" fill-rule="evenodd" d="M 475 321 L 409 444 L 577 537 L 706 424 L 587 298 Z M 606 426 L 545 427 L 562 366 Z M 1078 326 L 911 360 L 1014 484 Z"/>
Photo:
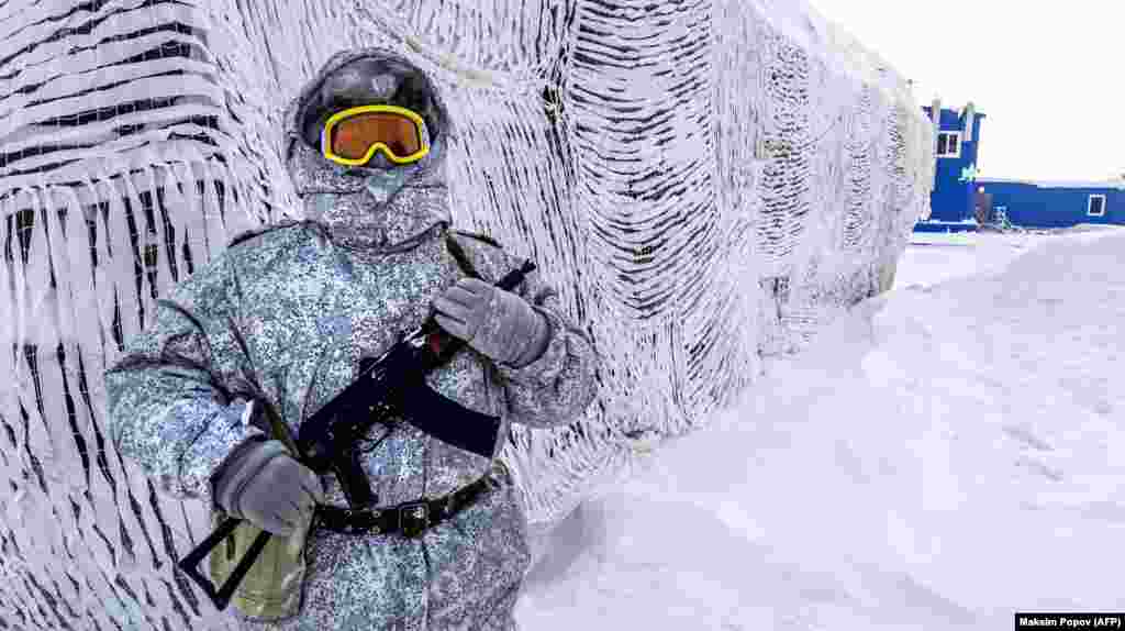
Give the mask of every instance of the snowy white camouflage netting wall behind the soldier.
<path id="1" fill-rule="evenodd" d="M 202 507 L 118 457 L 101 372 L 291 216 L 285 101 L 380 42 L 452 90 L 457 223 L 534 256 L 604 358 L 586 418 L 506 452 L 543 526 L 878 291 L 928 204 L 902 79 L 792 0 L 0 3 L 0 630 L 225 628 L 172 569 Z"/>

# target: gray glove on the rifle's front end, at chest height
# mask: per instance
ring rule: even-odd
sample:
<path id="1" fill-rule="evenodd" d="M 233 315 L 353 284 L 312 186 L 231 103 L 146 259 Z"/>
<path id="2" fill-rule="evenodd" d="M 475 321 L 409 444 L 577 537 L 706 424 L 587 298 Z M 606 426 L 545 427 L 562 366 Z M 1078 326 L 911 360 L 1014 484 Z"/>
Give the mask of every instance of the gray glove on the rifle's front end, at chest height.
<path id="1" fill-rule="evenodd" d="M 434 319 L 480 354 L 513 368 L 539 359 L 550 324 L 523 298 L 475 278 L 457 281 L 433 301 Z"/>

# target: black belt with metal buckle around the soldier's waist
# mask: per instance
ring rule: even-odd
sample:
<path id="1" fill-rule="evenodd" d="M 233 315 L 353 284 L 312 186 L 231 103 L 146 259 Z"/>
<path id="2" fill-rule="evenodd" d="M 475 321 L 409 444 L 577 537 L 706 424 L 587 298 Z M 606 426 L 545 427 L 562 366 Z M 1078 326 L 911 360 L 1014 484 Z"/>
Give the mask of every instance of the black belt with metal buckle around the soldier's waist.
<path id="1" fill-rule="evenodd" d="M 413 539 L 431 526 L 452 517 L 476 498 L 496 486 L 496 480 L 485 476 L 438 499 L 407 502 L 387 508 L 340 508 L 317 506 L 317 525 L 341 534 L 402 533 Z"/>

